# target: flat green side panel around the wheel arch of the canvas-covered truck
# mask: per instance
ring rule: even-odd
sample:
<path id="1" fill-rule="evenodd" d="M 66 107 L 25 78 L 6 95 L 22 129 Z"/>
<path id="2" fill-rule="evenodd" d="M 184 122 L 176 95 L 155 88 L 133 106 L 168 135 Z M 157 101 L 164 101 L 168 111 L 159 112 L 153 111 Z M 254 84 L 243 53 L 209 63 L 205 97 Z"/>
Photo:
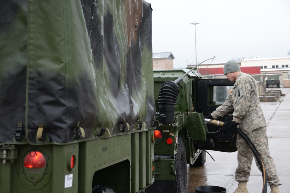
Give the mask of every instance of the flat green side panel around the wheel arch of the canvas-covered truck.
<path id="1" fill-rule="evenodd" d="M 98 182 L 93 181 L 93 177 L 96 171 L 107 168 L 125 160 L 128 160 L 131 165 L 131 141 L 131 134 L 128 134 L 114 136 L 107 139 L 98 139 L 82 142 L 79 147 L 80 159 L 84 161 L 79 166 L 79 192 L 90 192 L 92 190 L 92 185 L 100 185 L 98 184 Z M 131 174 L 130 168 L 129 172 Z M 112 175 L 112 173 L 104 173 L 105 175 L 107 175 L 107 177 L 110 177 Z M 115 183 L 115 185 L 117 185 L 117 182 Z M 128 186 L 130 186 L 131 191 L 131 180 L 127 181 L 127 183 Z"/>

